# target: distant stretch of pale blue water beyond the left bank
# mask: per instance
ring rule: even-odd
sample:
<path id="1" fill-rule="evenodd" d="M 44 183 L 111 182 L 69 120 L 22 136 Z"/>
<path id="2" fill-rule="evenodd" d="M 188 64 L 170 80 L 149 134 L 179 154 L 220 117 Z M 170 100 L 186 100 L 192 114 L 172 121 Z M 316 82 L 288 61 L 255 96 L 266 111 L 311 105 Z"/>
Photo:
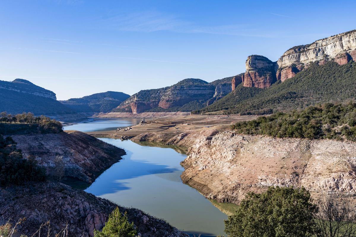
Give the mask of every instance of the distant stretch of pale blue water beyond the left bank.
<path id="1" fill-rule="evenodd" d="M 117 128 L 127 128 L 140 123 L 140 119 L 89 119 L 86 122 L 73 124 L 70 126 L 64 126 L 63 130 L 78 130 L 82 132 L 89 131 L 110 131 Z"/>

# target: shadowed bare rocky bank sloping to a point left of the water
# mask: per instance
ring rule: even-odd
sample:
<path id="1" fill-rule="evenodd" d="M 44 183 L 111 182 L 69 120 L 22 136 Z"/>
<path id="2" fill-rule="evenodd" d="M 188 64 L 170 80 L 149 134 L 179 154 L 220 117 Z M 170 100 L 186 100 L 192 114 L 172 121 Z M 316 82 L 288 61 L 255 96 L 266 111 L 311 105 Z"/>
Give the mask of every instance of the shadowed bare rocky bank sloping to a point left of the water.
<path id="1" fill-rule="evenodd" d="M 79 131 L 58 134 L 11 135 L 23 157 L 34 156 L 49 176 L 56 176 L 56 158 L 61 157 L 64 176 L 91 183 L 125 151 Z"/>

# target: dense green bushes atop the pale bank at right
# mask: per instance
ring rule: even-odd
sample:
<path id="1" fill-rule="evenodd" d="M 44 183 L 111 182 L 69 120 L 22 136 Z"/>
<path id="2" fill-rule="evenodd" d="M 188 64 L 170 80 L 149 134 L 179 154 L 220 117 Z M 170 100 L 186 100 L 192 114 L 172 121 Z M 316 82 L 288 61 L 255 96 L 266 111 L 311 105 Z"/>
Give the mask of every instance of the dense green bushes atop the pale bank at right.
<path id="1" fill-rule="evenodd" d="M 289 113 L 276 112 L 231 126 L 242 134 L 278 138 L 347 139 L 356 141 L 356 103 L 310 106 Z"/>

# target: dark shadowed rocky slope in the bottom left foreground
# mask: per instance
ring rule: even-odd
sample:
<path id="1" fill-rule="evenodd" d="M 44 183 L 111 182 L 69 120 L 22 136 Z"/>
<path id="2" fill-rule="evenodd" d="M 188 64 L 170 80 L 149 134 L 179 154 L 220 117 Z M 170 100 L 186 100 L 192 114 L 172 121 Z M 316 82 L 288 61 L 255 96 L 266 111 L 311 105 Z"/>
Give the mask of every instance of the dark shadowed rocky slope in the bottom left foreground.
<path id="1" fill-rule="evenodd" d="M 52 182 L 0 189 L 0 204 L 0 225 L 11 219 L 10 223 L 14 226 L 26 217 L 17 226 L 17 234 L 32 236 L 41 223 L 50 221 L 51 237 L 63 230 L 67 223 L 68 236 L 93 236 L 94 229 L 100 230 L 117 206 L 109 200 Z M 166 221 L 141 210 L 121 206 L 119 209 L 127 212 L 129 221 L 135 223 L 142 237 L 187 237 Z M 47 228 L 42 232 L 41 237 L 47 234 Z"/>

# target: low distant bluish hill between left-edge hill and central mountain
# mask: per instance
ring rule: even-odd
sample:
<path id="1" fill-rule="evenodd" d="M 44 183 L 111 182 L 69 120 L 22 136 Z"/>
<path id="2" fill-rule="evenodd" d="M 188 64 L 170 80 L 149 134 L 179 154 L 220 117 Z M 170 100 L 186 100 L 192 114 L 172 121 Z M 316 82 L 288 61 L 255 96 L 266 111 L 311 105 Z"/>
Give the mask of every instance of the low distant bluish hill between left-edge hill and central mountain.
<path id="1" fill-rule="evenodd" d="M 130 95 L 122 92 L 107 91 L 59 102 L 78 113 L 106 113 L 119 106 L 129 97 Z"/>

